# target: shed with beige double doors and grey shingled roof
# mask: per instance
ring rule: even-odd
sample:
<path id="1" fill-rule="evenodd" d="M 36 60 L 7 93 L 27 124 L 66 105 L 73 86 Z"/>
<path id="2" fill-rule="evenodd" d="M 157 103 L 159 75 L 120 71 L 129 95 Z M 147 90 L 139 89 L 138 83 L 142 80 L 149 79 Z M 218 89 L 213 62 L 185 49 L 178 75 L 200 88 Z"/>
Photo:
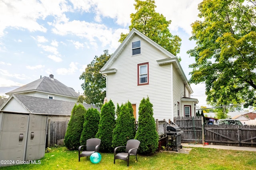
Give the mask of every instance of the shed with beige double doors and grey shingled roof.
<path id="1" fill-rule="evenodd" d="M 12 94 L 0 107 L 0 160 L 14 160 L 14 164 L 19 164 L 20 161 L 42 158 L 48 123 L 51 120 L 69 120 L 75 104 Z M 83 105 L 86 109 L 97 108 Z"/>

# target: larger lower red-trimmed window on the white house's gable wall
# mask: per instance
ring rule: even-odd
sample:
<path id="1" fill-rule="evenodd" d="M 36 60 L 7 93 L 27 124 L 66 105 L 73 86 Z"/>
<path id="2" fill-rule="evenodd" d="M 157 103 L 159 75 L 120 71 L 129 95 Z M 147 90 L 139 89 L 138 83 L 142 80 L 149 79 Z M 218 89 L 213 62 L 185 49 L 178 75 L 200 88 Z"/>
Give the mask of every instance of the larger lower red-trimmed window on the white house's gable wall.
<path id="1" fill-rule="evenodd" d="M 148 84 L 148 63 L 138 64 L 138 85 Z"/>

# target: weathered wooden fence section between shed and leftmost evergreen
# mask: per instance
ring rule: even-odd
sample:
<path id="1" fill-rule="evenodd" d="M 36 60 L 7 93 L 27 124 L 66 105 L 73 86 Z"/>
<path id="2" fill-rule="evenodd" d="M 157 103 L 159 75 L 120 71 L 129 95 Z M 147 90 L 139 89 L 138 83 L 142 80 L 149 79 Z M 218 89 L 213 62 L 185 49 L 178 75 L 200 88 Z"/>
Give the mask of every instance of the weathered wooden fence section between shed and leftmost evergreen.
<path id="1" fill-rule="evenodd" d="M 67 121 L 51 121 L 48 120 L 46 143 L 47 147 L 53 147 L 58 144 L 57 141 L 64 139 L 68 127 Z"/>

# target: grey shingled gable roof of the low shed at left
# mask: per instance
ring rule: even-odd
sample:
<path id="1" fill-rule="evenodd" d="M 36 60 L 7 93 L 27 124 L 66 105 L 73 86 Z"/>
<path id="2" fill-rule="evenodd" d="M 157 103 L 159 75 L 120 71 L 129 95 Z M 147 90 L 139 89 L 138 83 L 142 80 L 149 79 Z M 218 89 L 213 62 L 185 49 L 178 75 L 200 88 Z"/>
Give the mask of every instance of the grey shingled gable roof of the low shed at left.
<path id="1" fill-rule="evenodd" d="M 52 100 L 47 98 L 38 98 L 34 96 L 25 96 L 20 94 L 12 94 L 8 100 L 5 102 L 3 106 L 0 107 L 0 110 L 4 109 L 4 107 L 8 104 L 8 102 L 14 98 L 22 105 L 28 112 L 27 113 L 35 113 L 35 114 L 43 114 L 43 115 L 64 115 L 70 116 L 71 111 L 74 107 L 75 102 L 66 102 L 61 100 Z M 86 109 L 88 108 L 96 108 L 98 111 L 100 109 L 91 104 L 82 104 Z M 8 111 L 8 110 L 4 110 Z"/>

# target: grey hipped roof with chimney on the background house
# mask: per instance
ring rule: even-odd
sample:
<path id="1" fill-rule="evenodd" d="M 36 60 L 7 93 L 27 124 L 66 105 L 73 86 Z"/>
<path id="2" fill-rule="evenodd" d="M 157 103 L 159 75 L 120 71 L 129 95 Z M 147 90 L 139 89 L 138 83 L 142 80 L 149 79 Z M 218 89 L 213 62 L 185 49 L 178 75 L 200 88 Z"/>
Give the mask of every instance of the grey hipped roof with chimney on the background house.
<path id="1" fill-rule="evenodd" d="M 26 93 L 26 92 L 43 92 L 43 93 L 51 93 L 51 94 L 58 94 L 61 96 L 70 96 L 78 98 L 79 94 L 74 91 L 73 88 L 70 88 L 61 82 L 59 82 L 57 79 L 50 78 L 50 77 L 42 77 L 38 80 L 35 80 L 34 82 L 28 83 L 24 86 L 21 86 L 19 88 L 16 88 L 8 93 L 6 95 L 10 94 L 19 94 L 19 93 Z"/>

